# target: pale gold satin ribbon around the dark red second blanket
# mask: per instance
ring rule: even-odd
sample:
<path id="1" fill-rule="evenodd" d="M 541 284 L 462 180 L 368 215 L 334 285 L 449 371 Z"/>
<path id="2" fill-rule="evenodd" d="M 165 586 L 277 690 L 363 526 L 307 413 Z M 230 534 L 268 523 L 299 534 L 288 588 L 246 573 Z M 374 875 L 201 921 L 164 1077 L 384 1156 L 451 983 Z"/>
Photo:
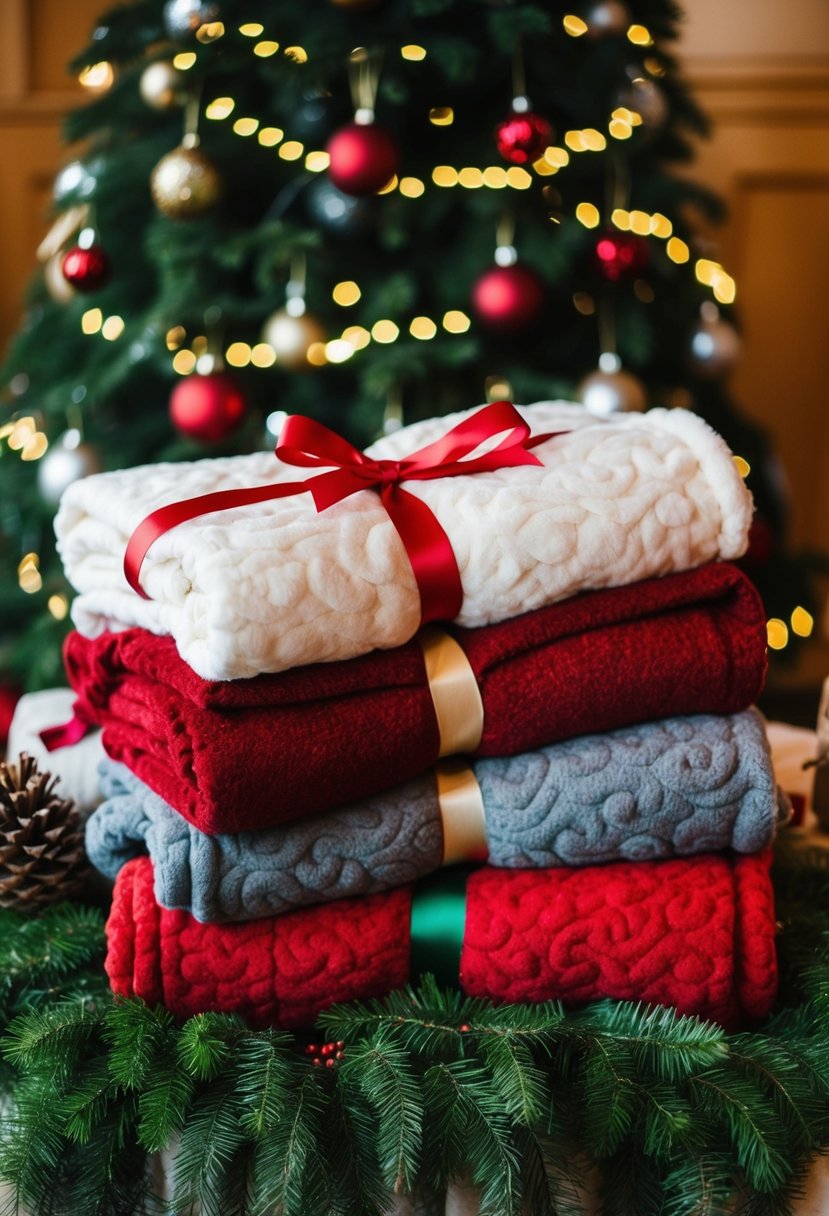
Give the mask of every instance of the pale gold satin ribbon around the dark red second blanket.
<path id="1" fill-rule="evenodd" d="M 422 629 L 417 640 L 438 719 L 438 755 L 474 751 L 484 733 L 484 703 L 469 659 L 440 629 Z"/>

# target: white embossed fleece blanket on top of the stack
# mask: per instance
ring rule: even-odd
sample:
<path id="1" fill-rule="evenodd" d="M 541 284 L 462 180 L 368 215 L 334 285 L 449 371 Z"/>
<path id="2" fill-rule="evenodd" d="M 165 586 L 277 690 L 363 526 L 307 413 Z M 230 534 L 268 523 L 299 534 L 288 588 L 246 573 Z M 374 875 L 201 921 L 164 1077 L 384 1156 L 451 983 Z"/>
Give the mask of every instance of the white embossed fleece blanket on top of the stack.
<path id="1" fill-rule="evenodd" d="M 401 458 L 474 411 L 402 428 L 368 449 Z M 686 410 L 597 418 L 562 401 L 521 407 L 543 465 L 407 482 L 457 558 L 466 626 L 504 620 L 593 587 L 689 569 L 744 550 L 751 496 L 723 440 Z M 399 646 L 419 624 L 414 576 L 379 496 L 317 513 L 300 494 L 214 512 L 163 535 L 142 599 L 124 547 L 156 507 L 214 490 L 310 474 L 271 452 L 101 473 L 68 488 L 55 522 L 81 634 L 141 625 L 171 634 L 205 679 Z"/>

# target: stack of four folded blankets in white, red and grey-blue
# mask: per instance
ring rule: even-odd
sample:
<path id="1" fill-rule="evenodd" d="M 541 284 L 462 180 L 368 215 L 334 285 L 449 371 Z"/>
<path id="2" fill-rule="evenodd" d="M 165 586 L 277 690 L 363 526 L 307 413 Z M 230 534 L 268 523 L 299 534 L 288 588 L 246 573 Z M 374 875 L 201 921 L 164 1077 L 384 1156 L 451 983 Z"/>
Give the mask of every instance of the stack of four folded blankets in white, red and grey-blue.
<path id="1" fill-rule="evenodd" d="M 457 561 L 439 629 L 418 629 L 374 490 L 164 531 L 145 598 L 122 561 L 150 512 L 295 469 L 256 454 L 69 488 L 66 666 L 108 758 L 86 840 L 115 878 L 117 992 L 300 1026 L 440 967 L 495 1000 L 768 1010 L 785 806 L 751 708 L 762 606 L 729 564 L 748 491 L 686 411 L 520 412 L 548 434 L 537 463 L 405 483 Z"/>

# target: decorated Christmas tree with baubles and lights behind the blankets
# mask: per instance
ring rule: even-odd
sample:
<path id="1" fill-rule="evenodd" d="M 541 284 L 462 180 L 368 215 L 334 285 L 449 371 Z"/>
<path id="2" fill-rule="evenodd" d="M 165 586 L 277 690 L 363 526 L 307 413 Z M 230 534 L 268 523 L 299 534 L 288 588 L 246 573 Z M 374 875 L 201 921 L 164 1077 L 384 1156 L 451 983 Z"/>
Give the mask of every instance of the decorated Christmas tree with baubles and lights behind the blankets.
<path id="1" fill-rule="evenodd" d="M 670 0 L 142 0 L 74 64 L 53 225 L 7 356 L 0 668 L 61 682 L 51 518 L 98 468 L 356 443 L 485 399 L 687 406 L 745 462 L 769 617 L 765 437 L 729 402 L 735 285 L 672 169 L 706 123 Z M 49 349 L 49 359 L 43 358 Z M 769 553 L 771 551 L 771 553 Z"/>

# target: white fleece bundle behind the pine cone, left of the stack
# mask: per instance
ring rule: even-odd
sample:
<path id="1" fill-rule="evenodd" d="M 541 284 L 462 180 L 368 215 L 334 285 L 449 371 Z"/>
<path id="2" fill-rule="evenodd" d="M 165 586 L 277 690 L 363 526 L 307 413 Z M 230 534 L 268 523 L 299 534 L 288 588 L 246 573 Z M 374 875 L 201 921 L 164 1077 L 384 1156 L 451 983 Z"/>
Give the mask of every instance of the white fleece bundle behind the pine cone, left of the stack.
<path id="1" fill-rule="evenodd" d="M 101 731 L 90 731 L 80 742 L 55 751 L 49 751 L 40 739 L 40 731 L 72 716 L 74 700 L 71 688 L 23 693 L 9 727 L 6 751 L 11 758 L 28 751 L 41 769 L 58 778 L 61 798 L 71 798 L 81 815 L 89 815 L 103 799 L 98 784 L 98 765 L 105 759 Z"/>

